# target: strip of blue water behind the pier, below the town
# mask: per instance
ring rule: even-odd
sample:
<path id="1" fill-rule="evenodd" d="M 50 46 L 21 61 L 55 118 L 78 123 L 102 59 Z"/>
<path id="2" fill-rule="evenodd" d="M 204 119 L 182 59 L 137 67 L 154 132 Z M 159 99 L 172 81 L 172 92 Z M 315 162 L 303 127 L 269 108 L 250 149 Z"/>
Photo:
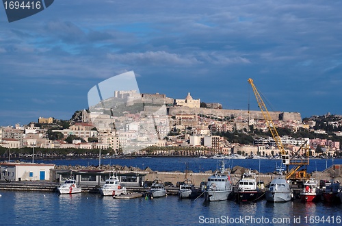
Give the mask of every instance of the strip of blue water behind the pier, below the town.
<path id="1" fill-rule="evenodd" d="M 35 160 L 35 162 L 53 163 L 57 165 L 80 165 L 80 166 L 98 166 L 98 159 L 82 159 L 82 160 Z M 256 169 L 261 173 L 273 172 L 276 166 L 280 166 L 280 160 L 246 160 L 234 159 L 225 160 L 226 168 L 233 166 L 243 166 L 245 168 Z M 324 171 L 326 167 L 334 164 L 342 164 L 342 159 L 313 159 L 310 160 L 308 166 L 308 173 L 312 171 Z M 139 168 L 146 168 L 149 166 L 153 171 L 181 171 L 184 172 L 186 168 L 195 173 L 199 171 L 214 171 L 221 167 L 221 160 L 215 159 L 200 159 L 200 158 L 111 158 L 102 159 L 101 164 L 120 165 L 120 166 L 134 166 Z"/>

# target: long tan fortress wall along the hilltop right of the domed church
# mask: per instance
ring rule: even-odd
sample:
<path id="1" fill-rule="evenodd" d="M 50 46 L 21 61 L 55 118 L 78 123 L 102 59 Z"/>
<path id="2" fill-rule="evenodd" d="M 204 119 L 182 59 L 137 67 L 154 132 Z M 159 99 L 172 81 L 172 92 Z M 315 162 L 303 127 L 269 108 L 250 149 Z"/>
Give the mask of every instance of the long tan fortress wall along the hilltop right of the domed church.
<path id="1" fill-rule="evenodd" d="M 228 109 L 212 109 L 212 108 L 188 108 L 183 106 L 168 107 L 168 115 L 176 114 L 205 114 L 213 117 L 224 118 L 225 116 L 239 118 L 241 120 L 248 119 L 248 110 L 228 110 Z M 299 112 L 269 112 L 272 120 L 282 121 L 302 121 L 302 116 Z M 250 119 L 263 120 L 261 111 L 250 111 Z"/>

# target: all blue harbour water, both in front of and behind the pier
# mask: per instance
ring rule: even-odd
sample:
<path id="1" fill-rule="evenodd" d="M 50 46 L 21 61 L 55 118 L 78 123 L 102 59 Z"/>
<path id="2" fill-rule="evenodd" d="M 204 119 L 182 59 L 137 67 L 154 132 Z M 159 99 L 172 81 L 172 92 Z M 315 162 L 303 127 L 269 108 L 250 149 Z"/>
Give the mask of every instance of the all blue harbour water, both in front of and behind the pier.
<path id="1" fill-rule="evenodd" d="M 35 161 L 38 162 L 38 161 Z M 98 160 L 43 161 L 63 165 L 98 165 Z M 119 164 L 155 171 L 194 172 L 214 170 L 218 160 L 198 158 L 105 159 L 102 164 Z M 260 164 L 259 164 L 260 162 Z M 244 166 L 274 171 L 280 160 L 226 160 L 226 166 Z M 311 160 L 308 171 L 324 170 L 332 160 Z M 342 164 L 342 160 L 334 160 Z M 200 167 L 199 167 L 200 166 Z M 176 196 L 145 200 L 121 200 L 98 194 L 59 195 L 53 192 L 14 192 L 0 190 L 0 225 L 341 225 L 342 204 L 258 203 L 239 205 L 232 201 L 205 203 L 202 198 L 179 200 Z M 329 218 L 328 218 L 329 217 Z M 278 223 L 272 223 L 276 221 Z M 267 224 L 268 223 L 268 224 Z"/>

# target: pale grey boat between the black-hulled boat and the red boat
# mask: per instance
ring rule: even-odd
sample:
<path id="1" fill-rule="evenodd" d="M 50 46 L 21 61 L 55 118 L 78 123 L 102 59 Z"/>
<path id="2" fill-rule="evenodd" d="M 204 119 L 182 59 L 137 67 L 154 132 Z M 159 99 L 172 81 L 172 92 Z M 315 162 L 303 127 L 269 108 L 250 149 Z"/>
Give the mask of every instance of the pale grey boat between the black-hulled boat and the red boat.
<path id="1" fill-rule="evenodd" d="M 282 175 L 282 168 L 278 168 L 278 177 L 272 179 L 266 190 L 266 200 L 272 203 L 287 202 L 293 199 L 293 190 L 290 188 L 289 181 Z"/>

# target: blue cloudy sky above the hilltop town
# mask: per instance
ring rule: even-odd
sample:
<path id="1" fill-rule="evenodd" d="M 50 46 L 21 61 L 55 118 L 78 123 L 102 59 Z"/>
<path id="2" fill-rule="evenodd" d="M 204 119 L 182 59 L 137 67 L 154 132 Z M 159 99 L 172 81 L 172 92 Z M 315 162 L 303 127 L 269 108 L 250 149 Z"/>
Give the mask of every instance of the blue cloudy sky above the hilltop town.
<path id="1" fill-rule="evenodd" d="M 302 118 L 342 114 L 341 1 L 56 0 L 8 23 L 0 5 L 0 125 L 68 120 L 134 71 L 142 93 Z M 265 101 L 264 99 L 264 101 Z"/>

